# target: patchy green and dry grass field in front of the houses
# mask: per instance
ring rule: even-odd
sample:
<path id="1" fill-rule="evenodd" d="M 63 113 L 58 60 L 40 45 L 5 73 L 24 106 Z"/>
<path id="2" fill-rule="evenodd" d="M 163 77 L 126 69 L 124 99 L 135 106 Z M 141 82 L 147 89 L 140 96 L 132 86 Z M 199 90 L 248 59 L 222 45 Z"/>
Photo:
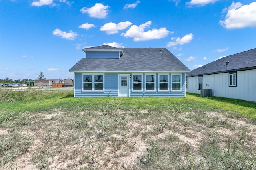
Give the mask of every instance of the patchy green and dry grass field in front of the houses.
<path id="1" fill-rule="evenodd" d="M 256 103 L 0 91 L 0 169 L 256 169 Z"/>

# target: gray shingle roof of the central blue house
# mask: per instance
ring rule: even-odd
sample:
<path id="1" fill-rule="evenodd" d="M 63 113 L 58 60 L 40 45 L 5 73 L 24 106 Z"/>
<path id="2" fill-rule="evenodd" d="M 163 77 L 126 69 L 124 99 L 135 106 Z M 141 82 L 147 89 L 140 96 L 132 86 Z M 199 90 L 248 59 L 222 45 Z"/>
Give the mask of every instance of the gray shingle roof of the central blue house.
<path id="1" fill-rule="evenodd" d="M 87 48 L 121 49 L 124 55 L 120 59 L 83 58 L 69 71 L 182 71 L 189 72 L 179 59 L 166 48 L 114 48 L 108 45 Z M 161 52 L 159 52 L 161 50 Z M 86 51 L 86 49 L 83 49 Z"/>

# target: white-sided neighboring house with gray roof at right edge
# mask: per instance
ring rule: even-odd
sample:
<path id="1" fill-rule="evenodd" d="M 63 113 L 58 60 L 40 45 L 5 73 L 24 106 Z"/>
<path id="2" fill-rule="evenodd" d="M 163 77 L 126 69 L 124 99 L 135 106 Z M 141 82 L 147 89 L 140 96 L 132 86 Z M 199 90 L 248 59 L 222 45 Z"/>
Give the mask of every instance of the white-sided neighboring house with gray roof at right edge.
<path id="1" fill-rule="evenodd" d="M 256 102 L 256 48 L 186 73 L 186 87 L 189 93 L 211 89 L 212 96 Z"/>

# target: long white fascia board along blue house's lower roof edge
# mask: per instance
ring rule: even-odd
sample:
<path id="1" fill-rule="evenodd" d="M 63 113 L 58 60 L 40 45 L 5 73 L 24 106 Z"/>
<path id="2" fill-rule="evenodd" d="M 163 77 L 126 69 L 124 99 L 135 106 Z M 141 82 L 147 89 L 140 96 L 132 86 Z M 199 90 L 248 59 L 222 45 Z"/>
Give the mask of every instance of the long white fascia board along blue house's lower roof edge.
<path id="1" fill-rule="evenodd" d="M 74 73 L 190 73 L 190 71 L 105 71 L 105 70 L 84 70 L 84 71 L 69 71 Z"/>

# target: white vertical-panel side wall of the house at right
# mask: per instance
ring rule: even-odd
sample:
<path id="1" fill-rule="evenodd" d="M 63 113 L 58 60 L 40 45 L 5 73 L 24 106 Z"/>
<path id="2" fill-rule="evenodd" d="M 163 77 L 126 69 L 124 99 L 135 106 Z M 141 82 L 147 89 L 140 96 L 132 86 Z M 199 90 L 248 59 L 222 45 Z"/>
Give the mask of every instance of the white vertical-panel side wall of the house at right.
<path id="1" fill-rule="evenodd" d="M 200 94 L 198 76 L 187 77 L 189 93 Z M 203 89 L 212 89 L 212 96 L 256 102 L 256 69 L 237 71 L 237 87 L 229 87 L 229 73 L 203 76 Z M 207 86 L 206 86 L 207 84 Z"/>

